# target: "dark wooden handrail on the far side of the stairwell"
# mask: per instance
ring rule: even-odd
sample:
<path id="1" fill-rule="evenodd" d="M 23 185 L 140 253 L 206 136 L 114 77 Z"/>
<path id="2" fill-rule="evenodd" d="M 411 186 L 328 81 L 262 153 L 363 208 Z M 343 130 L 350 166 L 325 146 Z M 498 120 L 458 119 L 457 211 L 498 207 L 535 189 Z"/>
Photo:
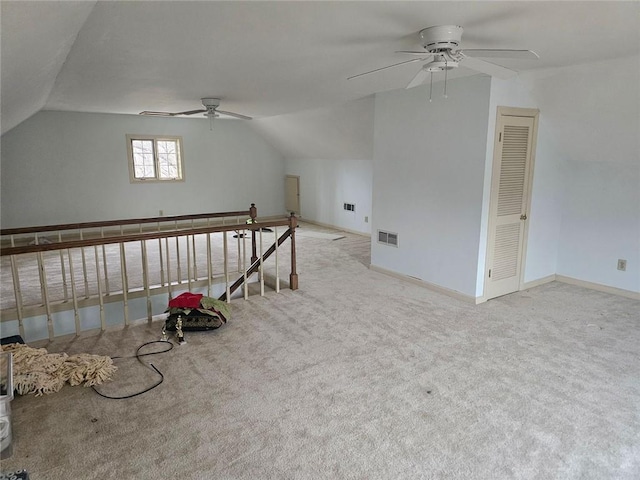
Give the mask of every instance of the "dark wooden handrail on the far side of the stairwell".
<path id="1" fill-rule="evenodd" d="M 255 208 L 255 204 L 251 204 Z M 234 212 L 196 213 L 191 215 L 171 215 L 168 217 L 128 218 L 122 220 L 105 220 L 99 222 L 62 223 L 59 225 L 43 225 L 35 227 L 17 227 L 0 229 L 0 235 L 21 235 L 26 233 L 57 232 L 62 230 L 79 230 L 83 228 L 117 227 L 120 225 L 138 225 L 147 223 L 180 222 L 184 220 L 201 220 L 205 218 L 251 217 L 251 209 Z M 254 217 L 251 217 L 254 218 Z"/>

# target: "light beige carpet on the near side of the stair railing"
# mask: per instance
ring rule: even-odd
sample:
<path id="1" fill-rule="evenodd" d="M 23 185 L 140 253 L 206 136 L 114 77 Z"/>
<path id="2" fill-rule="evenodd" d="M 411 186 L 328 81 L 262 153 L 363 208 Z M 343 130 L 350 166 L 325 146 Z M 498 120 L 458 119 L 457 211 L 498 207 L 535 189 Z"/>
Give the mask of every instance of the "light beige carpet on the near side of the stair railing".
<path id="1" fill-rule="evenodd" d="M 340 233 L 340 232 L 334 232 Z M 640 302 L 551 283 L 473 306 L 299 242 L 300 289 L 145 357 L 155 390 L 14 400 L 3 468 L 62 479 L 637 479 Z M 131 355 L 160 325 L 56 340 Z M 118 360 L 105 392 L 153 383 Z M 107 390 L 108 389 L 108 390 Z"/>

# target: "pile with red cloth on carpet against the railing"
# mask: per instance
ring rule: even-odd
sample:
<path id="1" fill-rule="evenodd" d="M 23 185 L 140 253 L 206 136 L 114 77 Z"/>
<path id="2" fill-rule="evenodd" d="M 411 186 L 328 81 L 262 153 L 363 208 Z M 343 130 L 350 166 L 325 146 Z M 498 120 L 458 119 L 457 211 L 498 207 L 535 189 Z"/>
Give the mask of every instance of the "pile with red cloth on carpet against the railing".
<path id="1" fill-rule="evenodd" d="M 169 313 L 167 330 L 176 330 L 178 318 L 182 320 L 182 330 L 213 330 L 227 323 L 230 305 L 201 293 L 185 292 L 169 300 L 165 313 Z"/>

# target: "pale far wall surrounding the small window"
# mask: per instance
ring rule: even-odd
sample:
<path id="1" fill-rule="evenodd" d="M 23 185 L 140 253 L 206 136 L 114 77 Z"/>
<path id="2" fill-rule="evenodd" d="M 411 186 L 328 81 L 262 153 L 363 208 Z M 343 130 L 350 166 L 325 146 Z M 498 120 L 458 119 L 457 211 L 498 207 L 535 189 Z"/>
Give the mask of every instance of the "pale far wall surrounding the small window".
<path id="1" fill-rule="evenodd" d="M 185 182 L 132 184 L 125 135 L 183 139 Z M 42 111 L 2 136 L 2 226 L 284 211 L 284 159 L 246 122 Z"/>

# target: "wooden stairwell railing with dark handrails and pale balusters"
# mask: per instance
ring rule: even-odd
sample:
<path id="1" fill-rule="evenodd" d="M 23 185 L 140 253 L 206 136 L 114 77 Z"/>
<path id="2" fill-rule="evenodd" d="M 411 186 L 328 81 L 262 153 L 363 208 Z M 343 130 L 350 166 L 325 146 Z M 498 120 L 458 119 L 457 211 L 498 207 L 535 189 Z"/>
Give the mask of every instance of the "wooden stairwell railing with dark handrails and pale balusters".
<path id="1" fill-rule="evenodd" d="M 295 290 L 296 226 L 294 216 L 258 221 L 252 204 L 246 211 L 3 229 L 0 320 L 17 320 L 24 337 L 25 319 L 45 317 L 51 339 L 57 335 L 54 316 L 61 312 L 73 312 L 74 330 L 79 334 L 86 329 L 83 323 L 91 323 L 82 318 L 86 307 L 99 308 L 99 328 L 104 330 L 114 323 L 106 314 L 111 303 L 121 304 L 122 324 L 128 325 L 134 299 L 146 299 L 146 317 L 151 320 L 157 295 L 166 295 L 166 305 L 181 291 L 206 288 L 212 296 L 215 288 L 224 286 L 221 298 L 230 301 L 244 285 L 248 298 L 248 280 L 255 273 L 264 295 L 264 262 L 273 253 L 275 272 L 269 277 L 279 291 L 278 247 L 287 238 L 291 239 L 289 287 Z M 285 230 L 280 237 L 278 228 Z M 271 236 L 271 229 L 275 241 L 265 251 L 263 232 Z M 235 252 L 229 248 L 230 233 L 235 234 Z M 232 278 L 238 273 L 239 278 Z"/>

